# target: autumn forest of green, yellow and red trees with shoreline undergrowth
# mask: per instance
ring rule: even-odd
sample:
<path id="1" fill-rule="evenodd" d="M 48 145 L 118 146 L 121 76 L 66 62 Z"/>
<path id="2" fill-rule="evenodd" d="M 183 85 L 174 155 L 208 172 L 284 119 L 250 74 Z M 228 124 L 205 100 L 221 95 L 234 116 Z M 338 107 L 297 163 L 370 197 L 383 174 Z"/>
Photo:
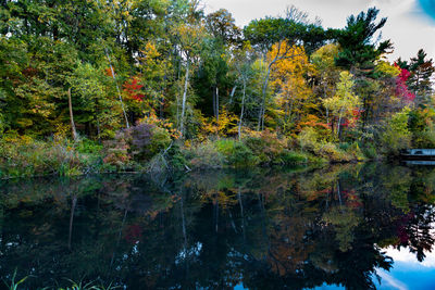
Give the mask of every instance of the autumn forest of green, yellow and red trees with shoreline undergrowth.
<path id="1" fill-rule="evenodd" d="M 435 148 L 433 60 L 388 60 L 378 13 L 338 29 L 288 7 L 238 27 L 199 0 L 0 0 L 0 178 Z"/>

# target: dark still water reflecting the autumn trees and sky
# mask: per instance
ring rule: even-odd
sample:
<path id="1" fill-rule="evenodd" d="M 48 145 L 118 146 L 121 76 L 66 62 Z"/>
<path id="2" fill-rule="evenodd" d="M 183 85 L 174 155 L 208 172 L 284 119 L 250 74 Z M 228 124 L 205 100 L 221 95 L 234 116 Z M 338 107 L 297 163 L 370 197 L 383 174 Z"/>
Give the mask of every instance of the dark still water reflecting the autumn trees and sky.
<path id="1" fill-rule="evenodd" d="M 22 289 L 435 289 L 433 167 L 0 186 L 0 276 Z"/>

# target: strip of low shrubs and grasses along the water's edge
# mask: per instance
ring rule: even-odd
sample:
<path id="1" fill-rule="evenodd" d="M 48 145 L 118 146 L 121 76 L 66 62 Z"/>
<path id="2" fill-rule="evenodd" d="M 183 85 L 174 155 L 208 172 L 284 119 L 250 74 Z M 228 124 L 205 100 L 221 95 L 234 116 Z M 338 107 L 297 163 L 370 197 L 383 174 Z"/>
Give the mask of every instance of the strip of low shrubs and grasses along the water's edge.
<path id="1" fill-rule="evenodd" d="M 269 131 L 241 140 L 211 138 L 202 142 L 171 140 L 158 134 L 150 135 L 149 140 L 132 134 L 104 142 L 73 141 L 59 136 L 42 141 L 14 136 L 0 140 L 0 178 L 325 165 L 371 159 L 373 152 L 361 150 L 357 142 L 319 143 L 279 138 Z"/>

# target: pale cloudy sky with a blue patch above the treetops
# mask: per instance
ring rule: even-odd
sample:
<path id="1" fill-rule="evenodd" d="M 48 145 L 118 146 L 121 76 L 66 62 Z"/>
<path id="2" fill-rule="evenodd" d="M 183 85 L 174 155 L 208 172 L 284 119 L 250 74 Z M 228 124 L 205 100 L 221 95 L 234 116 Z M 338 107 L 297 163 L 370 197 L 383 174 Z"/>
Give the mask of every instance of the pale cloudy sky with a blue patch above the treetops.
<path id="1" fill-rule="evenodd" d="M 435 0 L 202 0 L 206 12 L 221 8 L 228 10 L 240 27 L 251 20 L 283 15 L 294 4 L 308 12 L 312 20 L 322 20 L 324 27 L 344 28 L 346 18 L 368 8 L 381 10 L 381 17 L 388 17 L 382 29 L 382 39 L 390 39 L 395 52 L 390 61 L 401 56 L 409 60 L 424 49 L 435 60 Z"/>

